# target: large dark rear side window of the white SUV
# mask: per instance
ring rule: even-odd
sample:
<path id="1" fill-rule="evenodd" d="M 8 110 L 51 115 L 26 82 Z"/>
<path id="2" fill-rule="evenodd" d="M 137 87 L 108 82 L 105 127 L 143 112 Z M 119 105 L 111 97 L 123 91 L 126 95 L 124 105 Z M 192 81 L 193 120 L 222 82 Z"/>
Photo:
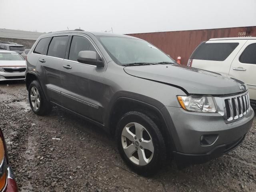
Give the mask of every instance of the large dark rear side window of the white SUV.
<path id="1" fill-rule="evenodd" d="M 190 59 L 224 61 L 238 44 L 202 42 L 192 53 Z"/>

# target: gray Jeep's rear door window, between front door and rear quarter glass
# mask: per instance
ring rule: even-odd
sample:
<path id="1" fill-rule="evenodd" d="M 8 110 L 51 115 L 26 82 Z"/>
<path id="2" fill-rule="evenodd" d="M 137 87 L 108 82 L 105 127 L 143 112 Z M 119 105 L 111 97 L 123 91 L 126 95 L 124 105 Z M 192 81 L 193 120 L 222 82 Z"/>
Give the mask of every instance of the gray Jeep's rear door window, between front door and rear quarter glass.
<path id="1" fill-rule="evenodd" d="M 55 36 L 52 38 L 48 49 L 48 56 L 65 58 L 68 36 Z"/>

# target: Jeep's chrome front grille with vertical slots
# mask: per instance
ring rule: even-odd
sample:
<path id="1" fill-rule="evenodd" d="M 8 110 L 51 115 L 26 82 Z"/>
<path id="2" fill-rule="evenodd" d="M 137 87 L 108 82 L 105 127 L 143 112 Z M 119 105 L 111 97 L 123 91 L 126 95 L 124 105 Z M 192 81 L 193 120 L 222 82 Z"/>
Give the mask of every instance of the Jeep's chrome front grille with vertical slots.
<path id="1" fill-rule="evenodd" d="M 224 102 L 224 112 L 228 122 L 238 120 L 250 111 L 250 98 L 248 92 L 228 97 Z"/>

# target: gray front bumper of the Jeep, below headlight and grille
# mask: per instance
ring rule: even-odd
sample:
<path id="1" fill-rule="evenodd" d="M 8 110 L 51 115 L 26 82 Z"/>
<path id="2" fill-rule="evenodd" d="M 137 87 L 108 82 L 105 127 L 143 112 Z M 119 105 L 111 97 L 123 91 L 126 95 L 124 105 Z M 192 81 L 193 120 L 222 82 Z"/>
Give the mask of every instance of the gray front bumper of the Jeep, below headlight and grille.
<path id="1" fill-rule="evenodd" d="M 202 163 L 216 158 L 236 148 L 252 126 L 254 111 L 252 108 L 242 119 L 225 123 L 218 113 L 188 112 L 182 108 L 165 107 L 168 112 L 169 132 L 175 147 L 172 149 L 177 162 Z M 164 115 L 166 118 L 168 115 Z M 171 118 L 170 118 L 171 117 Z M 207 146 L 201 144 L 202 135 L 216 134 L 217 140 Z"/>

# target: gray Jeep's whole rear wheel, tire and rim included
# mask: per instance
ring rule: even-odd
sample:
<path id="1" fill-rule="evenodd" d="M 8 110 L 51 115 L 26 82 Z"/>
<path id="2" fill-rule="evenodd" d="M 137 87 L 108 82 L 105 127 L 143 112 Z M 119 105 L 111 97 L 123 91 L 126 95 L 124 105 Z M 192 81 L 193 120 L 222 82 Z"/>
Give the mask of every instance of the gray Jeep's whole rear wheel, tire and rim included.
<path id="1" fill-rule="evenodd" d="M 29 85 L 28 100 L 32 111 L 37 115 L 47 115 L 52 110 L 52 106 L 46 100 L 42 88 L 37 80 L 32 81 Z"/>

